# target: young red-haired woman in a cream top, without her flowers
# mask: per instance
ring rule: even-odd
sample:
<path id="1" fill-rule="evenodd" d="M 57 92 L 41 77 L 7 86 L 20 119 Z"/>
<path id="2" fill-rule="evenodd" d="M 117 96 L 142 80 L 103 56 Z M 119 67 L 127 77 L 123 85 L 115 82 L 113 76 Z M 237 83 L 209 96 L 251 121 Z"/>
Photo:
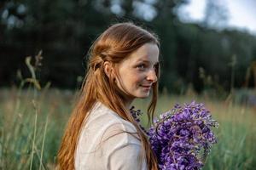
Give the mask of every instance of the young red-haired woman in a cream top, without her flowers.
<path id="1" fill-rule="evenodd" d="M 90 48 L 87 75 L 58 153 L 65 170 L 152 170 L 157 162 L 131 102 L 147 98 L 154 116 L 158 94 L 159 42 L 132 23 L 110 26 Z"/>

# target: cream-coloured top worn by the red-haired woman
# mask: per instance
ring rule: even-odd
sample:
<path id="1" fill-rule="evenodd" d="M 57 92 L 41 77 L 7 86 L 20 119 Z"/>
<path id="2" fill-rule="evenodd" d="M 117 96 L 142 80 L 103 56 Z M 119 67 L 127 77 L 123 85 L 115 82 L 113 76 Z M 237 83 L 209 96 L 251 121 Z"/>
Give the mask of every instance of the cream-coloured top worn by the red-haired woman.
<path id="1" fill-rule="evenodd" d="M 130 133 L 136 127 L 97 102 L 82 129 L 75 154 L 76 170 L 147 170 L 142 144 Z"/>

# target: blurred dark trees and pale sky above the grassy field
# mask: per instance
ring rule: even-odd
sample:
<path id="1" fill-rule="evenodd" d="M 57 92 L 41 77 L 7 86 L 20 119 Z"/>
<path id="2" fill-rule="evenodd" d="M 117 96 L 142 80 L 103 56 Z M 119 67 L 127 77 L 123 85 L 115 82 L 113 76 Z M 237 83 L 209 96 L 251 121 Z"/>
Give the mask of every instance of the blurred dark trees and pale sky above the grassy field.
<path id="1" fill-rule="evenodd" d="M 15 84 L 19 70 L 26 77 L 26 56 L 42 50 L 40 82 L 78 88 L 91 43 L 111 24 L 133 21 L 160 37 L 160 91 L 254 88 L 255 7 L 253 0 L 2 0 L 0 86 Z"/>

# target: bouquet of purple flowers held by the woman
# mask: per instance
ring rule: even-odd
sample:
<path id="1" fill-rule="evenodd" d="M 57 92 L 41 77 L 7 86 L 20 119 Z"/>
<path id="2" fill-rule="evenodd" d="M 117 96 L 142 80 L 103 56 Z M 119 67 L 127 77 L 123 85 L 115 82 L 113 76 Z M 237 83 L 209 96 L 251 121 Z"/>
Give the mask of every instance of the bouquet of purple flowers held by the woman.
<path id="1" fill-rule="evenodd" d="M 140 111 L 131 113 L 137 119 Z M 171 111 L 161 114 L 147 132 L 160 169 L 201 169 L 212 144 L 217 143 L 211 127 L 218 127 L 218 122 L 203 104 L 195 101 L 175 105 Z"/>

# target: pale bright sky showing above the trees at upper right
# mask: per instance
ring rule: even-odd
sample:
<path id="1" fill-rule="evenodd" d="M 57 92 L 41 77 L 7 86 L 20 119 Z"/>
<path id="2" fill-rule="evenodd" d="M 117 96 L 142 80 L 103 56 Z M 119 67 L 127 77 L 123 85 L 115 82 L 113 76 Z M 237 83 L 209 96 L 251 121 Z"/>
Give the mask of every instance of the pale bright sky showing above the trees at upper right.
<path id="1" fill-rule="evenodd" d="M 190 3 L 180 8 L 184 21 L 201 21 L 207 0 L 190 0 Z M 256 35 L 256 0 L 218 0 L 228 12 L 229 27 L 247 30 Z"/>

